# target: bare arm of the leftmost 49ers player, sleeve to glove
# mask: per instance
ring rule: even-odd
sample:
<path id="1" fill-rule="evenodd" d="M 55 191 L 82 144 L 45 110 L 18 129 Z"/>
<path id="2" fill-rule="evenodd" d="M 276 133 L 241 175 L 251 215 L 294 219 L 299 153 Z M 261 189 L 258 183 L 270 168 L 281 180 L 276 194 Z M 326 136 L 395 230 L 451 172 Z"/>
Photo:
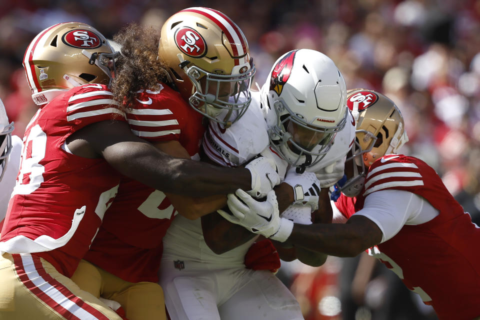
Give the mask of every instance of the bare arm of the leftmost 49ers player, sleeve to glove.
<path id="1" fill-rule="evenodd" d="M 74 134 L 120 173 L 163 192 L 209 196 L 251 189 L 248 169 L 172 157 L 135 136 L 126 122 L 100 121 Z"/>

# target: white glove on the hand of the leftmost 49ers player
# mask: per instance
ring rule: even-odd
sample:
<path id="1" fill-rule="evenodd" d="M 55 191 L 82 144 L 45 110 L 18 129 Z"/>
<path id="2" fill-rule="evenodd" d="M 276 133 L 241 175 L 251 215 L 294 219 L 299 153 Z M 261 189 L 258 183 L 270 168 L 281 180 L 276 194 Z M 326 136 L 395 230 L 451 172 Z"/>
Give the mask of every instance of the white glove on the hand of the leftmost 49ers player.
<path id="1" fill-rule="evenodd" d="M 268 191 L 280 183 L 280 176 L 272 159 L 260 156 L 248 162 L 245 168 L 250 170 L 251 174 L 251 190 L 247 191 L 251 196 L 264 197 Z"/>

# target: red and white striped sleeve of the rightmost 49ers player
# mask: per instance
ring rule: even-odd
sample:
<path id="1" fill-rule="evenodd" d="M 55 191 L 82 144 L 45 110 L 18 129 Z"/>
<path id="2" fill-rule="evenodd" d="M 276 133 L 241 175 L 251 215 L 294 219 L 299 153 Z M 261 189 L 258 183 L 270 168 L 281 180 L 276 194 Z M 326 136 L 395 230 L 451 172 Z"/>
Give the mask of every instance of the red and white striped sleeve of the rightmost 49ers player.
<path id="1" fill-rule="evenodd" d="M 363 196 L 385 189 L 411 191 L 411 187 L 423 185 L 418 166 L 404 155 L 388 154 L 376 160 L 365 179 Z"/>

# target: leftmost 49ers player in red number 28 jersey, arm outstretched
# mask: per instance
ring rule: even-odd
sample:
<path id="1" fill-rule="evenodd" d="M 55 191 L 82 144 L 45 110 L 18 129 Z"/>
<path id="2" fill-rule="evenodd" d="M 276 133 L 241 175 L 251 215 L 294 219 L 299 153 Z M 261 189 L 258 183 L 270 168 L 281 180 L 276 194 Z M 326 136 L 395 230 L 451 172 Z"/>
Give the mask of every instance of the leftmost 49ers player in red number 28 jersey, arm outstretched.
<path id="1" fill-rule="evenodd" d="M 218 168 L 169 156 L 133 134 L 107 87 L 115 56 L 96 29 L 74 22 L 41 31 L 25 52 L 39 109 L 25 130 L 1 230 L 0 317 L 119 318 L 69 277 L 118 192 L 121 174 L 197 196 L 235 187 L 266 193 L 279 179 L 266 159 L 247 169 Z"/>

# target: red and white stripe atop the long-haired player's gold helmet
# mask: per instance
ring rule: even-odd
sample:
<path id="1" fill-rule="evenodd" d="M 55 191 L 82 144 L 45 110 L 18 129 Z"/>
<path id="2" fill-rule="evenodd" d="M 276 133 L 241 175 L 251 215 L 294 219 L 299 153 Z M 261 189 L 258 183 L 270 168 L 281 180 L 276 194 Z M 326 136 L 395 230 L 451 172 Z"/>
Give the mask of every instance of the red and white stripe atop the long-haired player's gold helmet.
<path id="1" fill-rule="evenodd" d="M 236 24 L 234 24 L 229 18 L 225 19 L 225 15 L 220 15 L 216 10 L 203 7 L 188 8 L 181 10 L 180 12 L 183 11 L 201 14 L 215 22 L 216 25 L 218 25 L 218 27 L 220 27 L 220 29 L 225 33 L 228 41 L 230 41 L 230 43 L 236 43 L 231 46 L 234 56 L 244 55 L 246 53 L 246 43 L 242 32 L 239 31 Z M 235 65 L 238 65 L 237 59 L 235 59 Z"/>

